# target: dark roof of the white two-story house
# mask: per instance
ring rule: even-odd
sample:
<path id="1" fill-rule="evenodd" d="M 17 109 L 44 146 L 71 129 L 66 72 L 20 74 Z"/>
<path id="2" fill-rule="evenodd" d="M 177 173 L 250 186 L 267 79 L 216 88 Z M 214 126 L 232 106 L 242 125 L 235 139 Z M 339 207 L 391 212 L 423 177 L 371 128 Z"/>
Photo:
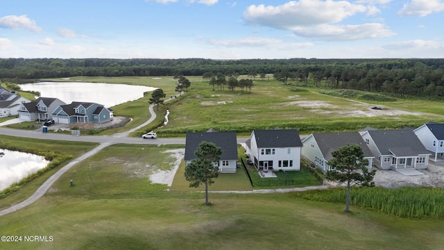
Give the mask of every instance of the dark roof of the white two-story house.
<path id="1" fill-rule="evenodd" d="M 258 148 L 302 147 L 297 129 L 255 130 Z"/>

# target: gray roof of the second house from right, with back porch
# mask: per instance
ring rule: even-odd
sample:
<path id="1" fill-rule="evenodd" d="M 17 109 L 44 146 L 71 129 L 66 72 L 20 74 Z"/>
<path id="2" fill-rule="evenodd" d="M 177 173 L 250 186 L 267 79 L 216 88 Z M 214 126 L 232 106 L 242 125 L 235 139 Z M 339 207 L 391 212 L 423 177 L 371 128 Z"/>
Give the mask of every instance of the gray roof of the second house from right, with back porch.
<path id="1" fill-rule="evenodd" d="M 368 131 L 368 133 L 382 155 L 418 156 L 419 154 L 430 154 L 413 133 L 413 129 Z"/>

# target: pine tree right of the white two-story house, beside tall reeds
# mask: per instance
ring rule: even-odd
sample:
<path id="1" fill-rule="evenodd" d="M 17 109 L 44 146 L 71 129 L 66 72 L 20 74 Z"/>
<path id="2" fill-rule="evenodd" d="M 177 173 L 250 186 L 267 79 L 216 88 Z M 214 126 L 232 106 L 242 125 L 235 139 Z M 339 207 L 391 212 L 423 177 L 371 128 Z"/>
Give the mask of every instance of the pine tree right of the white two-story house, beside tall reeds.
<path id="1" fill-rule="evenodd" d="M 350 212 L 350 187 L 352 185 L 373 186 L 375 170 L 368 172 L 368 160 L 364 159 L 364 152 L 357 144 L 339 148 L 332 152 L 333 159 L 328 165 L 334 170 L 327 171 L 327 180 L 345 183 L 347 185 L 347 198 L 345 212 Z"/>

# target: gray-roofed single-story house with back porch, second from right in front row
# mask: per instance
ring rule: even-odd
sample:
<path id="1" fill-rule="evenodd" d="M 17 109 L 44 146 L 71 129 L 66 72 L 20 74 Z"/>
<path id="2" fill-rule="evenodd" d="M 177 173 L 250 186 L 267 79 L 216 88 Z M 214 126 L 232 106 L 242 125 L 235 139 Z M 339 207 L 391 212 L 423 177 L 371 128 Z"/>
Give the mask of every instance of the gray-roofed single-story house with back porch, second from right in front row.
<path id="1" fill-rule="evenodd" d="M 379 169 L 427 169 L 431 154 L 413 129 L 366 131 L 362 138 L 375 156 Z"/>

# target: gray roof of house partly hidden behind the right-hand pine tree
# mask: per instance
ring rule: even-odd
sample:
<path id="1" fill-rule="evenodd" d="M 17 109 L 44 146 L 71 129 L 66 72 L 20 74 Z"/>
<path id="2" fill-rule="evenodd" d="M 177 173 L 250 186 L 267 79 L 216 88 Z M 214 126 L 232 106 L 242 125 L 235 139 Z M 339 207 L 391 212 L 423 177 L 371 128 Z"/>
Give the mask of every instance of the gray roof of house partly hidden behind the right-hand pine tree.
<path id="1" fill-rule="evenodd" d="M 340 147 L 357 144 L 361 147 L 364 157 L 374 157 L 373 153 L 368 149 L 366 142 L 362 139 L 358 132 L 348 133 L 314 133 L 316 143 L 321 149 L 325 160 L 332 160 L 332 153 Z"/>

